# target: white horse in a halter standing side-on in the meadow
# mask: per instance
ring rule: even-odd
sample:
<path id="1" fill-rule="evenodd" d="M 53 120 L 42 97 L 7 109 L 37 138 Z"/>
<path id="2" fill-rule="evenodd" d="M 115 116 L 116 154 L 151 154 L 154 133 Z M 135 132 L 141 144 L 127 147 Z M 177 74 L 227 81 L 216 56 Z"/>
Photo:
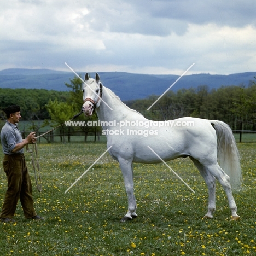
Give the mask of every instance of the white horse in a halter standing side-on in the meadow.
<path id="1" fill-rule="evenodd" d="M 119 162 L 123 173 L 128 211 L 121 221 L 137 217 L 133 162 L 152 164 L 161 162 L 161 159 L 169 161 L 187 156 L 194 162 L 208 187 L 208 212 L 204 218 L 213 217 L 217 179 L 228 197 L 231 219 L 239 219 L 231 185 L 233 189 L 239 188 L 242 175 L 236 142 L 227 124 L 191 117 L 165 122 L 148 120 L 104 87 L 97 73 L 95 79 L 85 74 L 83 97 L 84 114 L 90 116 L 96 109 L 103 133 L 107 136 L 107 148 L 112 146 L 109 154 Z M 219 166 L 217 156 L 220 166 L 229 175 Z"/>

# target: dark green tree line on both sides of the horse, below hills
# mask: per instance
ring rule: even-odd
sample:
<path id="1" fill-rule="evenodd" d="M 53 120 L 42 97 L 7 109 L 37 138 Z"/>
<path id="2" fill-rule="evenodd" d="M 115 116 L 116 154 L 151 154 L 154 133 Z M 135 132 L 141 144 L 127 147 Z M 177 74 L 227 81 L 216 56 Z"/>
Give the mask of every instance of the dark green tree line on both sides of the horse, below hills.
<path id="1" fill-rule="evenodd" d="M 83 82 L 74 77 L 66 86 L 69 91 L 0 88 L 0 115 L 4 119 L 3 109 L 9 104 L 19 104 L 25 120 L 45 120 L 45 125 L 53 126 L 64 123 L 80 112 L 83 103 Z M 222 86 L 210 90 L 207 85 L 200 85 L 177 92 L 168 91 L 147 111 L 158 98 L 158 95 L 151 95 L 125 103 L 152 120 L 197 117 L 222 120 L 232 130 L 256 130 L 255 81 L 248 86 Z M 92 117 L 86 117 L 86 120 L 96 119 L 96 113 Z M 85 120 L 84 115 L 78 120 Z M 63 132 L 65 129 L 86 132 L 89 128 L 63 127 Z"/>

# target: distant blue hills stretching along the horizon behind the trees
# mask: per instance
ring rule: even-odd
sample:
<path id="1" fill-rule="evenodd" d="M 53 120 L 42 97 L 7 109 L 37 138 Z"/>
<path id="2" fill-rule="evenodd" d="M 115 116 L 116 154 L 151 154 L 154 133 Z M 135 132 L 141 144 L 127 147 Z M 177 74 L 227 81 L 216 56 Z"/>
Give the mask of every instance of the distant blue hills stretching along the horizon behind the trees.
<path id="1" fill-rule="evenodd" d="M 84 78 L 86 72 L 77 72 Z M 178 75 L 147 75 L 126 72 L 98 72 L 104 86 L 115 92 L 121 100 L 136 100 L 149 95 L 161 95 L 178 78 Z M 95 73 L 91 73 L 94 77 Z M 19 69 L 11 68 L 0 71 L 0 88 L 26 88 L 68 91 L 65 83 L 69 83 L 75 74 L 73 72 L 54 71 L 50 69 Z M 196 88 L 207 85 L 212 88 L 228 85 L 248 86 L 255 80 L 256 72 L 245 72 L 230 75 L 193 74 L 184 75 L 172 87 L 177 91 L 185 88 Z"/>

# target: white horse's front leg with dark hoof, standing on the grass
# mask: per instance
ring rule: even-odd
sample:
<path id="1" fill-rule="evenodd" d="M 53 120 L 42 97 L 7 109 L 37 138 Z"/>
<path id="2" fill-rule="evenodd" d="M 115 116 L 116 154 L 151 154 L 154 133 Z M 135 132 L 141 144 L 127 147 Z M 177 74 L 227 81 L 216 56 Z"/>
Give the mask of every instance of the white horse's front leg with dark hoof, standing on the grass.
<path id="1" fill-rule="evenodd" d="M 128 211 L 125 214 L 125 216 L 121 219 L 121 222 L 125 222 L 126 220 L 131 220 L 137 217 L 137 206 L 133 185 L 133 166 L 131 161 L 127 161 L 124 159 L 119 160 L 119 165 L 123 173 L 125 189 L 128 197 Z"/>

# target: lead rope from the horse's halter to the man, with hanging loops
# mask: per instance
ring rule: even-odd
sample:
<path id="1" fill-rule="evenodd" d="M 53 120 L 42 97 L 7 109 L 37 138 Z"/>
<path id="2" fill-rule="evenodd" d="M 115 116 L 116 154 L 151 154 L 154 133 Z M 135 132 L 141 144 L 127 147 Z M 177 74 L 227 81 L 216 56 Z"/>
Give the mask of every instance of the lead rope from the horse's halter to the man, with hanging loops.
<path id="1" fill-rule="evenodd" d="M 82 114 L 83 111 L 81 110 L 80 113 L 74 115 L 74 117 L 72 119 L 70 119 L 68 122 L 74 120 L 75 118 L 79 117 L 80 114 Z M 61 125 L 58 125 L 57 127 L 49 130 L 49 131 L 46 131 L 44 132 L 43 134 L 39 135 L 36 137 L 39 138 L 41 136 L 44 136 L 46 135 L 47 133 L 51 132 L 51 131 L 54 131 L 56 130 L 57 128 L 61 127 L 62 125 L 65 125 L 65 123 L 61 124 Z M 32 159 L 32 166 L 33 166 L 33 170 L 34 170 L 34 179 L 36 181 L 36 184 L 37 184 L 37 190 L 39 192 L 42 192 L 42 180 L 41 180 L 41 175 L 40 175 L 40 166 L 39 166 L 39 161 L 38 161 L 38 148 L 37 148 L 37 142 L 35 143 L 32 143 L 31 144 L 31 150 L 28 148 L 28 144 L 26 144 L 26 150 L 28 153 L 31 153 L 31 159 Z M 35 161 L 34 161 L 34 153 L 36 153 L 36 164 L 35 164 Z M 38 172 L 38 178 L 37 178 L 37 172 Z M 39 180 L 39 183 L 38 183 L 38 180 Z"/>

